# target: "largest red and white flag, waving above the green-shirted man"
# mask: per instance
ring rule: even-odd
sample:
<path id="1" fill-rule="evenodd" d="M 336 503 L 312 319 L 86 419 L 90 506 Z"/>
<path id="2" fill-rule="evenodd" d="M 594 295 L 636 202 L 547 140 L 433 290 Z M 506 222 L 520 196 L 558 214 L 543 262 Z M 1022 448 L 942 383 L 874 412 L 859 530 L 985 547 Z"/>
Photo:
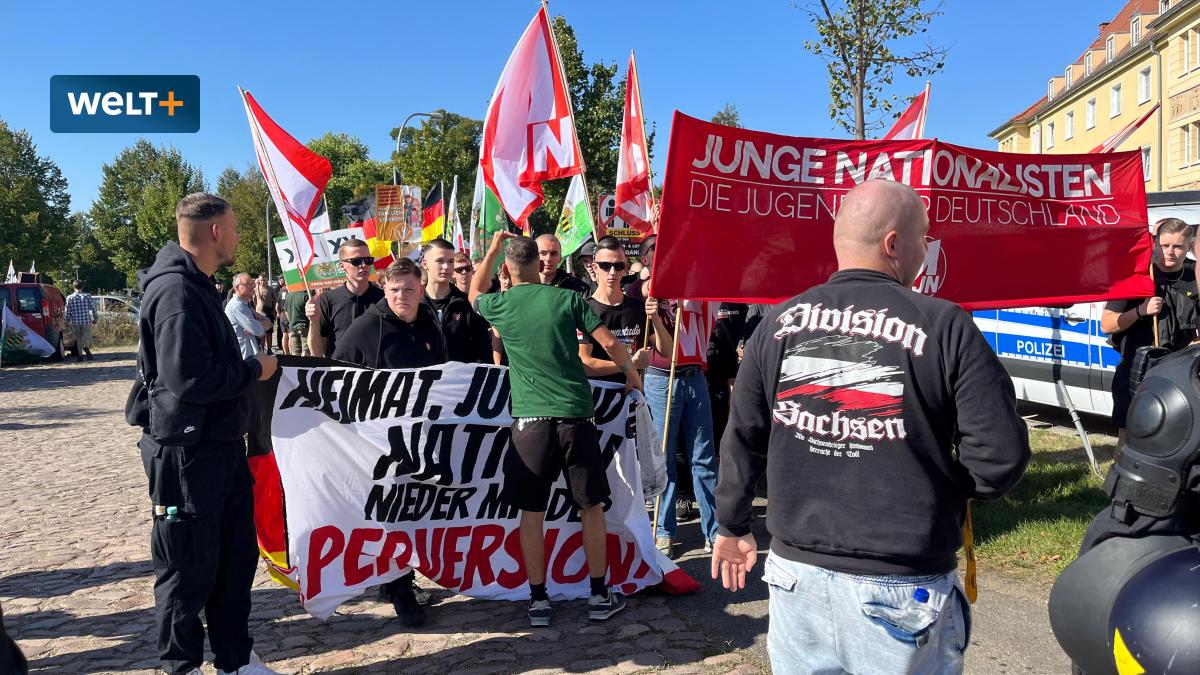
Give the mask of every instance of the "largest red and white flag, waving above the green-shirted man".
<path id="1" fill-rule="evenodd" d="M 512 49 L 484 120 L 479 166 L 509 216 L 526 227 L 541 181 L 583 173 L 558 47 L 542 6 Z"/>

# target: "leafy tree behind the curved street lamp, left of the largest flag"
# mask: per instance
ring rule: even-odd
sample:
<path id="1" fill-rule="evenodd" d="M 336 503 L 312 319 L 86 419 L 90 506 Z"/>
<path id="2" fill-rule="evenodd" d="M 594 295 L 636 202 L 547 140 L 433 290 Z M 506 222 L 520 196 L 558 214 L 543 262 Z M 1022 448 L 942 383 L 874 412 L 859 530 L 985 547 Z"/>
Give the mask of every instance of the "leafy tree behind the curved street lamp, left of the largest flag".
<path id="1" fill-rule="evenodd" d="M 460 115 L 442 113 L 439 120 L 424 120 L 419 126 L 404 127 L 400 139 L 400 154 L 395 155 L 400 169 L 400 183 L 416 185 L 424 196 L 438 181 L 445 184 L 445 198 L 450 199 L 454 177 L 458 177 L 458 219 L 466 231 L 470 220 L 470 197 L 475 189 L 475 171 L 479 168 L 479 143 L 484 135 L 484 123 Z M 391 130 L 396 137 L 397 129 Z M 391 175 L 388 177 L 388 183 Z"/>

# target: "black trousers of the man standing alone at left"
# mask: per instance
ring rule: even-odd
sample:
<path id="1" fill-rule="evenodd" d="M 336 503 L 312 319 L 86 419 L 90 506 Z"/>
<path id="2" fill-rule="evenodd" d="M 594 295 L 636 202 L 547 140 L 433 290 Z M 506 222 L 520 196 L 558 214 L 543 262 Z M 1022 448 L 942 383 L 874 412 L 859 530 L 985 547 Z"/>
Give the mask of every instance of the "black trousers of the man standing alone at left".
<path id="1" fill-rule="evenodd" d="M 204 625 L 214 665 L 233 671 L 250 661 L 250 590 L 258 542 L 254 495 L 241 442 L 161 446 L 138 443 L 156 515 L 150 537 L 155 571 L 158 657 L 167 673 L 204 662 Z"/>

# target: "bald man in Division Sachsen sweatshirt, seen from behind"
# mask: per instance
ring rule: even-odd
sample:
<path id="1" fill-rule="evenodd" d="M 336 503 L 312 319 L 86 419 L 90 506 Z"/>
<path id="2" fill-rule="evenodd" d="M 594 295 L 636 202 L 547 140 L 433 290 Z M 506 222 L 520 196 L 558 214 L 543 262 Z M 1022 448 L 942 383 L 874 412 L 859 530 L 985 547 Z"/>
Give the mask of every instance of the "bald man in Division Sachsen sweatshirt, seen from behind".
<path id="1" fill-rule="evenodd" d="M 1030 459 L 1013 384 L 959 306 L 912 291 L 929 217 L 870 180 L 834 223 L 838 271 L 770 310 L 745 345 L 716 490 L 713 578 L 757 557 L 770 485 L 767 649 L 776 673 L 960 673 L 970 609 L 955 554 L 967 500 Z"/>

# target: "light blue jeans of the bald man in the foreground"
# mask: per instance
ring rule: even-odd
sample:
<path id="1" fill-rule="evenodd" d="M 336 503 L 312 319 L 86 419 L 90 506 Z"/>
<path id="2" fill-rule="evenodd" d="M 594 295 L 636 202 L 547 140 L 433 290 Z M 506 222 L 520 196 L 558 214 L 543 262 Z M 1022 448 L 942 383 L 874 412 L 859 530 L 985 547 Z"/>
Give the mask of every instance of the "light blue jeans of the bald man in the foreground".
<path id="1" fill-rule="evenodd" d="M 956 571 L 928 577 L 863 577 L 792 562 L 772 552 L 767 652 L 780 675 L 962 673 L 971 609 Z M 917 589 L 919 620 L 896 626 Z"/>

